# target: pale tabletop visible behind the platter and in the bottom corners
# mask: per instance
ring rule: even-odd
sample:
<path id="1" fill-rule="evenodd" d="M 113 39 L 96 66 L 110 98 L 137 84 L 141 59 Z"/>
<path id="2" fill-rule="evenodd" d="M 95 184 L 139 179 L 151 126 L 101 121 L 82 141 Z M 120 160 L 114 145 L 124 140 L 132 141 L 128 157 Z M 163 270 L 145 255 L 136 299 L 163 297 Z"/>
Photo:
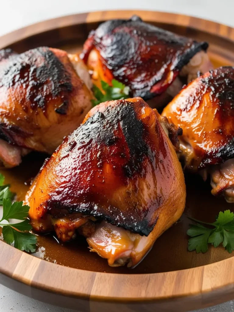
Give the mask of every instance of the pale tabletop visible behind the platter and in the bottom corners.
<path id="1" fill-rule="evenodd" d="M 188 14 L 234 27 L 233 0 L 2 0 L 0 1 L 0 36 L 17 28 L 62 15 L 113 9 L 157 10 Z M 0 258 L 1 261 L 1 258 Z M 0 285 L 2 312 L 71 312 L 27 298 Z M 202 312 L 234 312 L 228 302 Z"/>

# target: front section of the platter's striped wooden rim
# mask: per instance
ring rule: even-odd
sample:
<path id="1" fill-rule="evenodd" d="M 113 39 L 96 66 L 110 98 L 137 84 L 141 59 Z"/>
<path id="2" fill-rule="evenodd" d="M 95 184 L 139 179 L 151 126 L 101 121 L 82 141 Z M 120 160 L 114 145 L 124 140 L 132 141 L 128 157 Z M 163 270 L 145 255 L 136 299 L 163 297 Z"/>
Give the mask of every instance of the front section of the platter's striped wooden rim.
<path id="1" fill-rule="evenodd" d="M 178 271 L 119 274 L 61 266 L 31 256 L 3 241 L 0 241 L 0 252 L 0 273 L 31 287 L 82 299 L 149 302 L 196 295 L 205 296 L 211 292 L 222 294 L 226 289 L 234 287 L 233 257 L 209 265 Z M 55 286 L 54 280 L 48 279 L 49 276 L 61 276 L 63 282 L 61 287 Z M 73 280 L 76 282 L 74 283 Z M 137 286 L 128 292 L 124 287 L 117 291 L 114 289 L 115 284 L 126 285 L 128 283 Z M 113 285 L 113 291 L 110 291 L 110 285 Z M 139 285 L 141 285 L 140 290 Z"/>

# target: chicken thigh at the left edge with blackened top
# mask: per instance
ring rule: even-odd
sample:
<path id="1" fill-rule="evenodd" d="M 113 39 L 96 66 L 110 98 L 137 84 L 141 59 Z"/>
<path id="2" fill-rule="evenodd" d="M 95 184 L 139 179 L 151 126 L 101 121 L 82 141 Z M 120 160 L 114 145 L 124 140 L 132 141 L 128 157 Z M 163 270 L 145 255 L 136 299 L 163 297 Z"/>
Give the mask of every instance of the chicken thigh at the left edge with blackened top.
<path id="1" fill-rule="evenodd" d="M 0 52 L 0 159 L 6 167 L 18 165 L 27 151 L 52 154 L 90 110 L 92 94 L 72 61 L 48 47 Z M 12 149 L 14 159 L 7 156 Z"/>

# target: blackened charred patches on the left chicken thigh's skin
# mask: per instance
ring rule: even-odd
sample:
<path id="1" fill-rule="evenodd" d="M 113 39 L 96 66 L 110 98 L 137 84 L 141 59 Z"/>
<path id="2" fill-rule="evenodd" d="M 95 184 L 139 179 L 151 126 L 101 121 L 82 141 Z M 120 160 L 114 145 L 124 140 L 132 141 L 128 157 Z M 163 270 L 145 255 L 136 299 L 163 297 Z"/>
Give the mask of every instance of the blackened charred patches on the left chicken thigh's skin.
<path id="1" fill-rule="evenodd" d="M 35 65 L 37 57 L 43 59 L 40 66 Z M 32 110 L 41 108 L 43 113 L 45 113 L 47 102 L 51 98 L 63 95 L 63 103 L 55 109 L 55 112 L 60 115 L 66 115 L 69 106 L 69 95 L 73 90 L 71 75 L 49 47 L 38 47 L 22 54 L 17 54 L 11 49 L 1 50 L 0 61 L 1 59 L 8 59 L 7 62 L 9 63 L 6 67 L 4 66 L 2 77 L 0 77 L 0 87 L 6 86 L 10 88 L 14 86 L 17 83 L 15 80 L 16 76 L 20 76 L 21 71 L 24 72 L 26 70 L 30 72 L 26 83 L 32 81 L 26 101 L 30 101 Z M 43 91 L 43 86 L 48 83 L 48 80 L 53 82 L 54 87 L 50 90 L 51 94 L 46 95 Z M 32 132 L 23 130 L 16 125 L 0 123 L 0 138 L 12 145 L 27 148 L 24 144 L 24 139 L 31 135 L 33 135 Z"/>

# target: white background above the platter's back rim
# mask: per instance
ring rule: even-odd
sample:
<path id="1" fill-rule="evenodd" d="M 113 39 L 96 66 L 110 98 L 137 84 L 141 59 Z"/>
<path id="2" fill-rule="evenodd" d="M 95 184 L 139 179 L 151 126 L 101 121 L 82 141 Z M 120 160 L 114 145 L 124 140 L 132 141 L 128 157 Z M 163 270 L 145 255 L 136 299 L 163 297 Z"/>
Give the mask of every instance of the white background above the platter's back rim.
<path id="1" fill-rule="evenodd" d="M 48 18 L 108 9 L 176 12 L 234 26 L 233 0 L 0 0 L 0 35 Z"/>

